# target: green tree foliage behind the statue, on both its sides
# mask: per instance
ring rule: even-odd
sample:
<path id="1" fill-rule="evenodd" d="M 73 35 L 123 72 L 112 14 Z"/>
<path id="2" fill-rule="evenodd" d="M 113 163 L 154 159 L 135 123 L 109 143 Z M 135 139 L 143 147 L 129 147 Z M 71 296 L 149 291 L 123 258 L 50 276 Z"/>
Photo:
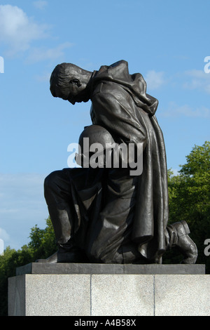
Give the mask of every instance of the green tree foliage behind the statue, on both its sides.
<path id="1" fill-rule="evenodd" d="M 198 248 L 197 263 L 205 264 L 210 274 L 210 256 L 204 255 L 204 241 L 210 239 L 210 143 L 195 145 L 186 160 L 178 175 L 168 171 L 169 223 L 187 221 L 190 237 Z M 50 218 L 45 229 L 31 228 L 29 237 L 29 244 L 22 249 L 15 251 L 8 246 L 4 256 L 0 256 L 0 316 L 7 315 L 8 277 L 15 276 L 15 269 L 57 251 Z M 176 251 L 166 253 L 163 260 L 164 263 L 180 261 Z"/>

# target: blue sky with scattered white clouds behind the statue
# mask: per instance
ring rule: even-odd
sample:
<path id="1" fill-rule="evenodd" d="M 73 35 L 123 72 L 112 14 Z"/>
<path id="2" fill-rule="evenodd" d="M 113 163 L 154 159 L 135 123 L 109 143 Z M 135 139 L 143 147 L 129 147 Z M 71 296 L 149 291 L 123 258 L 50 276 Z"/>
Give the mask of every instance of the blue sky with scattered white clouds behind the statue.
<path id="1" fill-rule="evenodd" d="M 90 102 L 52 98 L 55 65 L 99 70 L 127 60 L 159 100 L 168 168 L 210 140 L 209 0 L 0 2 L 0 239 L 20 249 L 45 227 L 43 180 L 67 167 L 70 143 L 91 124 Z M 210 65 L 209 65 L 210 68 Z M 4 69 L 4 70 L 3 70 Z M 208 70 L 206 70 L 208 71 Z"/>

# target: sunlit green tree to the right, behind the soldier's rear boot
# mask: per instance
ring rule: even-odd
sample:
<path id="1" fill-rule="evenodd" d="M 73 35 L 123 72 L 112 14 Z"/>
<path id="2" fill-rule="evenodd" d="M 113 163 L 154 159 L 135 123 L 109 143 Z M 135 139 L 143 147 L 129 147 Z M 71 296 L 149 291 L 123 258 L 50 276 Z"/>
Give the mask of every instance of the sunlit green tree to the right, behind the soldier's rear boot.
<path id="1" fill-rule="evenodd" d="M 193 147 L 178 176 L 169 171 L 169 223 L 186 220 L 198 249 L 197 263 L 206 264 L 204 241 L 210 239 L 210 143 Z M 172 253 L 173 254 L 173 253 Z"/>

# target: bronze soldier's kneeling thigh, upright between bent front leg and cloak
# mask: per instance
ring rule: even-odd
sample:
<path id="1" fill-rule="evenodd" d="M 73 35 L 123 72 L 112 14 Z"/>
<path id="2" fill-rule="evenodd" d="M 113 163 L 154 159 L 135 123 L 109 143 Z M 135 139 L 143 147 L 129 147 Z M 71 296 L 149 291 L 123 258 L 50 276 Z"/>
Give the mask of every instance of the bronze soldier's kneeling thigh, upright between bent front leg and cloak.
<path id="1" fill-rule="evenodd" d="M 127 170 L 108 172 L 104 207 L 92 222 L 92 237 L 87 248 L 88 258 L 96 263 L 132 263 L 141 258 L 131 240 L 137 178 Z"/>

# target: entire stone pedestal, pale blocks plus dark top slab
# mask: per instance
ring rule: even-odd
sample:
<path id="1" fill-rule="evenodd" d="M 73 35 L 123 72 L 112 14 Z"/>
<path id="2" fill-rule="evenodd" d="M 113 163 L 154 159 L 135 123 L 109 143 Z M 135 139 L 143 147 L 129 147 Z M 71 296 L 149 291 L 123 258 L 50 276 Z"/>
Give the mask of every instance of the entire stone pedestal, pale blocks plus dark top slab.
<path id="1" fill-rule="evenodd" d="M 204 265 L 31 263 L 8 279 L 8 315 L 209 316 L 210 275 Z"/>

